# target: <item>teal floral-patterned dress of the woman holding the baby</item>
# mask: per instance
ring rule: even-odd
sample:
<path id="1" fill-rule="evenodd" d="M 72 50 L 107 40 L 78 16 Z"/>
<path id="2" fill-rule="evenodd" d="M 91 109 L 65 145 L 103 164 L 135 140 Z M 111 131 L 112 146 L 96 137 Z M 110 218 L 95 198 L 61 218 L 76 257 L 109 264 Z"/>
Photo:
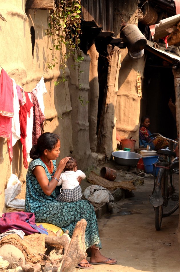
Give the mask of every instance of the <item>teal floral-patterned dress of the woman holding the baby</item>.
<path id="1" fill-rule="evenodd" d="M 63 231 L 68 229 L 70 236 L 73 234 L 76 223 L 81 219 L 85 219 L 87 221 L 85 230 L 86 249 L 92 245 L 101 248 L 93 206 L 87 200 L 70 203 L 55 200 L 59 194 L 59 186 L 56 187 L 50 196 L 47 196 L 41 189 L 36 177 L 32 174 L 36 165 L 44 167 L 49 182 L 51 182 L 51 178 L 56 171 L 55 160 L 53 161 L 54 171 L 52 176 L 40 158 L 30 162 L 26 175 L 25 212 L 34 213 L 36 222 L 51 223 L 60 227 Z"/>

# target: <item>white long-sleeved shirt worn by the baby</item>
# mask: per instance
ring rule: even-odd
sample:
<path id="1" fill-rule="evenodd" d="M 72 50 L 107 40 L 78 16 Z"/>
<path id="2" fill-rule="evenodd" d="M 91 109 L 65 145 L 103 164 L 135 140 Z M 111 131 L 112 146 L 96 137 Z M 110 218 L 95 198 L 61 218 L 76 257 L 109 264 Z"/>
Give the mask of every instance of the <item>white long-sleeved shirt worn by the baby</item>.
<path id="1" fill-rule="evenodd" d="M 79 185 L 77 177 L 80 176 L 82 179 L 85 179 L 86 175 L 81 170 L 74 171 L 65 171 L 61 173 L 59 177 L 59 182 L 57 186 L 62 184 L 63 190 L 65 189 L 73 189 Z"/>

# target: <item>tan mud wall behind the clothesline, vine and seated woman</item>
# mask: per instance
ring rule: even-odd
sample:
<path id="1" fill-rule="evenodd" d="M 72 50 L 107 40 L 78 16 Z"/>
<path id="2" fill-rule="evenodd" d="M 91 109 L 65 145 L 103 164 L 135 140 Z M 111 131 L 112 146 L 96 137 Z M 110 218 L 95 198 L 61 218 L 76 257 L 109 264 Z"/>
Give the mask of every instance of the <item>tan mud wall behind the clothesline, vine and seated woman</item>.
<path id="1" fill-rule="evenodd" d="M 49 11 L 25 10 L 25 2 L 12 0 L 11 4 L 8 1 L 1 3 L 1 13 L 6 21 L 0 19 L 0 65 L 25 92 L 31 92 L 41 77 L 44 77 L 47 89 L 47 94 L 43 96 L 46 118 L 44 128 L 45 132 L 55 132 L 60 136 L 61 153 L 57 163 L 61 158 L 73 154 L 77 158 L 79 169 L 85 170 L 91 164 L 89 127 L 87 107 L 80 104 L 78 97 L 82 95 L 88 100 L 90 58 L 86 57 L 84 63 L 86 68 L 81 69 L 85 71 L 81 77 L 81 84 L 84 86 L 81 92 L 78 90 L 75 72 L 72 72 L 72 69 L 70 71 L 68 67 L 66 70 L 68 81 L 55 86 L 54 82 L 61 77 L 61 70 L 59 65 L 53 70 L 47 69 L 47 62 L 52 58 L 52 51 L 49 50 L 51 41 L 45 35 Z M 31 27 L 35 31 L 34 52 L 31 44 Z M 56 57 L 59 59 L 58 53 Z M 27 170 L 23 166 L 22 145 L 18 140 L 13 146 L 13 161 L 10 165 L 7 141 L 0 138 L 0 212 L 5 211 L 4 189 L 11 173 L 17 175 L 21 181 L 26 179 Z"/>

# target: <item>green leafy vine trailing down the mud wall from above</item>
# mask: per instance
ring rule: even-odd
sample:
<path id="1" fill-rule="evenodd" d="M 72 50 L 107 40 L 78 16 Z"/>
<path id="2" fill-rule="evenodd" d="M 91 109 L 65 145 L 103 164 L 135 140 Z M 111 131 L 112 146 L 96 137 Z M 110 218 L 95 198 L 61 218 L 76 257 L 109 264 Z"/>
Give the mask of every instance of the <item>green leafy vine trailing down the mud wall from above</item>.
<path id="1" fill-rule="evenodd" d="M 52 38 L 53 46 L 49 48 L 52 50 L 52 59 L 47 63 L 47 67 L 53 69 L 58 64 L 56 53 L 60 51 L 60 68 L 63 72 L 62 79 L 55 82 L 55 85 L 67 81 L 65 68 L 70 56 L 73 57 L 74 61 L 72 66 L 74 69 L 77 67 L 78 83 L 80 74 L 84 72 L 80 70 L 80 63 L 84 57 L 78 46 L 80 43 L 79 34 L 81 33 L 80 13 L 80 0 L 55 0 L 55 8 L 50 12 L 49 28 L 46 30 L 46 34 Z M 79 89 L 81 89 L 80 83 Z"/>

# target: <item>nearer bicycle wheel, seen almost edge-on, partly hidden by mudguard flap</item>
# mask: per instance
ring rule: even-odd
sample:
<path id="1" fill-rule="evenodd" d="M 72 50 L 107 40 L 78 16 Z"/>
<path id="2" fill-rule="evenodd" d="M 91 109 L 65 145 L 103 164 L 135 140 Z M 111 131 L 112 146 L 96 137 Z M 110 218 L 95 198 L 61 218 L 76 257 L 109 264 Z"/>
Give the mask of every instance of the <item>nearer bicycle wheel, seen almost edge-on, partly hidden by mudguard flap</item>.
<path id="1" fill-rule="evenodd" d="M 159 169 L 157 180 L 158 179 L 161 182 L 161 193 L 164 198 L 164 168 Z M 163 204 L 155 208 L 155 228 L 157 231 L 159 231 L 161 228 L 162 217 L 163 217 Z"/>

